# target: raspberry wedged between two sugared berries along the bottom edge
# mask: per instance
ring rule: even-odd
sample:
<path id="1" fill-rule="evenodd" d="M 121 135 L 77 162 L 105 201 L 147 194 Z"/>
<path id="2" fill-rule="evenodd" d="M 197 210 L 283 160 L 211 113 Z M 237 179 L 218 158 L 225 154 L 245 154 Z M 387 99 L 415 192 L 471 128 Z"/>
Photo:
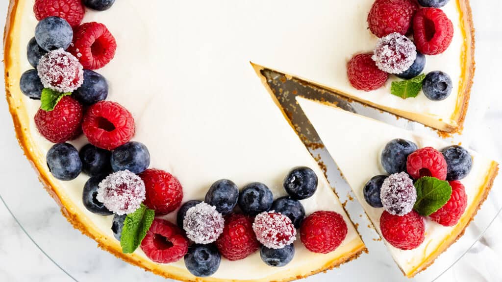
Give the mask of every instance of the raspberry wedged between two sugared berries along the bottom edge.
<path id="1" fill-rule="evenodd" d="M 253 218 L 242 214 L 225 217 L 223 233 L 216 240 L 216 246 L 223 257 L 239 260 L 256 252 L 260 242 L 253 231 Z"/>

